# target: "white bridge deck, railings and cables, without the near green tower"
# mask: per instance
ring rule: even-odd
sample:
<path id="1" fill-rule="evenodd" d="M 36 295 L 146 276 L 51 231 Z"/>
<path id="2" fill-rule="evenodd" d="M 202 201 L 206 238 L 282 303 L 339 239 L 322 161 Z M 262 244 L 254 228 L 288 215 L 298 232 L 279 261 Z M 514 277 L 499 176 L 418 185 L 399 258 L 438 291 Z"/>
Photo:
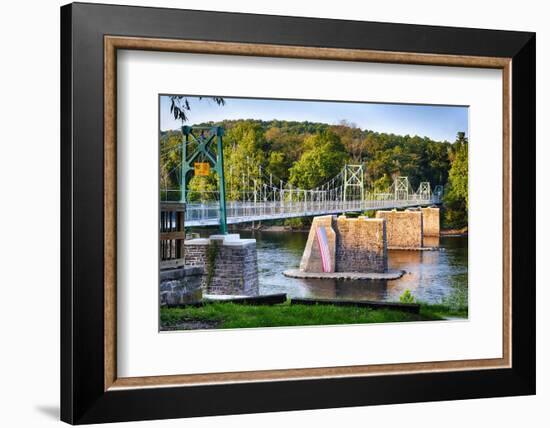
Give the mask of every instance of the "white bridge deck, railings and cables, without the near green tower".
<path id="1" fill-rule="evenodd" d="M 260 168 L 256 178 L 242 177 L 241 190 L 238 192 L 231 189 L 230 178 L 226 201 L 227 223 L 409 208 L 441 202 L 441 186 L 436 186 L 432 192 L 430 183 L 422 182 L 415 191 L 408 177 L 396 177 L 391 187 L 381 193 L 365 189 L 364 175 L 362 165 L 345 165 L 325 184 L 315 189 L 300 189 L 276 180 L 272 175 L 266 176 Z M 179 192 L 161 189 L 163 203 L 170 200 L 178 203 Z M 195 194 L 195 202 L 189 201 L 186 204 L 186 227 L 212 226 L 219 223 L 217 192 L 202 193 Z"/>

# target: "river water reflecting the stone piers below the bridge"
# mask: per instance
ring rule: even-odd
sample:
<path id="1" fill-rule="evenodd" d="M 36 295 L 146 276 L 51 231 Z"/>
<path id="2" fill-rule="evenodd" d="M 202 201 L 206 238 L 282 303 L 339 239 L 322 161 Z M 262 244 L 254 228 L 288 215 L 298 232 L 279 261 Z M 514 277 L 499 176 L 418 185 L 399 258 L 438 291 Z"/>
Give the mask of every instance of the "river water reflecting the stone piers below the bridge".
<path id="1" fill-rule="evenodd" d="M 424 302 L 467 304 L 467 237 L 440 238 L 438 251 L 388 251 L 389 268 L 407 272 L 398 280 L 338 281 L 294 279 L 283 275 L 284 270 L 300 265 L 307 233 L 240 233 L 243 238 L 257 240 L 260 294 L 399 301 L 399 296 L 409 289 L 418 300 Z"/>

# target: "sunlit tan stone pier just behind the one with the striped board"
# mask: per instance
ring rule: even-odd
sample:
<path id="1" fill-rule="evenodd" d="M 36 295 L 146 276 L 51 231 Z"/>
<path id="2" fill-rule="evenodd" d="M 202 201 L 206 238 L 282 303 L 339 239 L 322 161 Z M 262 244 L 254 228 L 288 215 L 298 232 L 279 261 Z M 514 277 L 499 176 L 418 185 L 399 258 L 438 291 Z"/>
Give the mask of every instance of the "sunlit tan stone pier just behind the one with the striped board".
<path id="1" fill-rule="evenodd" d="M 377 211 L 376 218 L 386 220 L 386 237 L 389 249 L 423 247 L 422 211 Z"/>

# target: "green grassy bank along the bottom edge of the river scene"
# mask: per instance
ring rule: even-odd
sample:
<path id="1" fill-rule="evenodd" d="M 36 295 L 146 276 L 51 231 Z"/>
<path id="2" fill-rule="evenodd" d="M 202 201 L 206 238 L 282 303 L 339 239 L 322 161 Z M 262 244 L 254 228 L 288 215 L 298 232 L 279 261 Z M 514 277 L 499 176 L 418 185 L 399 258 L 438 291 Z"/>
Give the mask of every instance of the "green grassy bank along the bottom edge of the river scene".
<path id="1" fill-rule="evenodd" d="M 240 305 L 210 303 L 202 307 L 161 308 L 162 329 L 250 328 L 384 322 L 434 321 L 448 317 L 465 318 L 467 309 L 422 304 L 419 314 L 398 310 L 342 307 L 332 305 Z"/>

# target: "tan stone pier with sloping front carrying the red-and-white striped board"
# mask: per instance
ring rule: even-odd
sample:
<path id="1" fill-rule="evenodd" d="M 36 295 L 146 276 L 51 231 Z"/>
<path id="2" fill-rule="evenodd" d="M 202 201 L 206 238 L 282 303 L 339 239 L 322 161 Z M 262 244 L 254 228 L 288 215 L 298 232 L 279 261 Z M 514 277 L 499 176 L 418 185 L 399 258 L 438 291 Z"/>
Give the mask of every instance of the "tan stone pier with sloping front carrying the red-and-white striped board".
<path id="1" fill-rule="evenodd" d="M 335 272 L 385 272 L 388 267 L 385 222 L 366 217 L 313 219 L 300 269 L 322 272 L 315 229 L 325 227 Z"/>

